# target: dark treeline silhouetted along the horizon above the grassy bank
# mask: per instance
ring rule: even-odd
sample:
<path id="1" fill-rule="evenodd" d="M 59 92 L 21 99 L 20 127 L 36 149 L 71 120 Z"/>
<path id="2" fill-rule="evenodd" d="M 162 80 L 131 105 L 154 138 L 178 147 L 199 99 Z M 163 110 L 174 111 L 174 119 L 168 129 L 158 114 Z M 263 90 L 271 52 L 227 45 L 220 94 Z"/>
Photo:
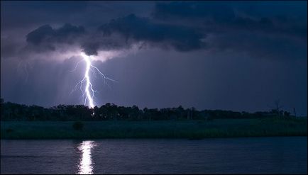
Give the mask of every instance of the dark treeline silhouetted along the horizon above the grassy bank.
<path id="1" fill-rule="evenodd" d="M 265 118 L 287 116 L 287 111 L 273 109 L 268 112 L 235 112 L 223 110 L 197 111 L 195 108 L 138 108 L 106 103 L 101 107 L 84 105 L 59 105 L 52 108 L 26 106 L 1 99 L 1 120 L 20 121 L 70 121 L 70 120 L 212 120 L 215 118 Z"/>

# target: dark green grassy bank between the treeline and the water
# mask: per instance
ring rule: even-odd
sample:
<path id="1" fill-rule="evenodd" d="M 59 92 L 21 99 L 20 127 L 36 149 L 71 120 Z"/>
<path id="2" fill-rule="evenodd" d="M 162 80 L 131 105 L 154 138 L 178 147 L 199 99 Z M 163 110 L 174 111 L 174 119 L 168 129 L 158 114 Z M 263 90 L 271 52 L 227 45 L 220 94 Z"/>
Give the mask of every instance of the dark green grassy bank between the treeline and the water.
<path id="1" fill-rule="evenodd" d="M 4 122 L 1 139 L 98 139 L 307 136 L 307 118 L 165 121 Z"/>

